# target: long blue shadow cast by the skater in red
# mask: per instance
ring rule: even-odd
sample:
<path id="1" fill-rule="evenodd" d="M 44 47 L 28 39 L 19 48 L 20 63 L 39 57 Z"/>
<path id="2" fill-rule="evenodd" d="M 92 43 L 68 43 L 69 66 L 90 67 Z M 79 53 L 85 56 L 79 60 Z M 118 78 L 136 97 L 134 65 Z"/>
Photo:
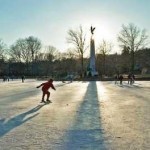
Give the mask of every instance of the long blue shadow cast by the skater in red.
<path id="1" fill-rule="evenodd" d="M 0 137 L 4 136 L 9 131 L 22 125 L 23 123 L 27 122 L 28 120 L 36 117 L 39 113 L 33 114 L 32 116 L 31 116 L 31 114 L 37 112 L 43 106 L 44 105 L 38 105 L 25 113 L 19 114 L 15 117 L 9 119 L 8 121 L 6 121 L 5 118 L 0 119 Z M 28 116 L 28 115 L 30 115 L 30 116 Z"/>

